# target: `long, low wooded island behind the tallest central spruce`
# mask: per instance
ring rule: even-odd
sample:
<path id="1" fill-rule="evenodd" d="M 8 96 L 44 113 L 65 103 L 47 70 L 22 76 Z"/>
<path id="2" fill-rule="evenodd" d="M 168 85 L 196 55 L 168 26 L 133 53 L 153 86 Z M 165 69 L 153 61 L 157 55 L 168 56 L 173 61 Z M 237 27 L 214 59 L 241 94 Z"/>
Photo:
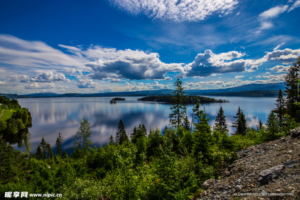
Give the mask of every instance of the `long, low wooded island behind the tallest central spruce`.
<path id="1" fill-rule="evenodd" d="M 225 99 L 213 99 L 209 97 L 202 97 L 202 96 L 186 96 L 187 100 L 185 104 L 191 103 L 223 103 L 229 102 Z M 171 95 L 162 95 L 162 96 L 149 96 L 149 97 L 142 97 L 137 99 L 138 101 L 156 101 L 156 102 L 165 102 L 165 103 L 173 103 Z"/>

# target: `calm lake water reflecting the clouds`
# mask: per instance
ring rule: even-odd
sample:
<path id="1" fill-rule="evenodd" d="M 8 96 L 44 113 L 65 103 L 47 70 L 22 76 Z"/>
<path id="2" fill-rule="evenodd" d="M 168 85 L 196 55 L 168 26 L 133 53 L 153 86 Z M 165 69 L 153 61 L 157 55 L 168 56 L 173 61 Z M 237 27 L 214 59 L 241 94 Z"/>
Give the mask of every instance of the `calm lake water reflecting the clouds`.
<path id="1" fill-rule="evenodd" d="M 238 106 L 241 107 L 247 117 L 249 127 L 256 127 L 259 119 L 266 122 L 271 110 L 275 108 L 276 97 L 222 97 L 207 96 L 215 99 L 226 99 L 229 103 L 204 103 L 205 110 L 209 113 L 210 124 L 214 124 L 220 106 L 223 106 L 224 115 L 229 133 L 234 133 L 230 127 L 235 121 L 235 113 Z M 125 101 L 109 103 L 112 97 L 65 97 L 65 98 L 30 98 L 18 99 L 22 107 L 29 108 L 32 115 L 32 151 L 41 142 L 44 136 L 55 152 L 55 140 L 58 133 L 64 137 L 63 149 L 73 145 L 74 135 L 79 127 L 79 121 L 83 116 L 91 122 L 93 145 L 105 145 L 110 135 L 116 136 L 119 120 L 122 119 L 128 136 L 134 126 L 144 124 L 149 133 L 150 128 L 157 125 L 161 130 L 169 124 L 170 109 L 168 104 L 137 101 L 140 97 L 124 97 Z M 187 107 L 189 120 L 193 105 Z M 15 145 L 16 147 L 16 145 Z"/>

